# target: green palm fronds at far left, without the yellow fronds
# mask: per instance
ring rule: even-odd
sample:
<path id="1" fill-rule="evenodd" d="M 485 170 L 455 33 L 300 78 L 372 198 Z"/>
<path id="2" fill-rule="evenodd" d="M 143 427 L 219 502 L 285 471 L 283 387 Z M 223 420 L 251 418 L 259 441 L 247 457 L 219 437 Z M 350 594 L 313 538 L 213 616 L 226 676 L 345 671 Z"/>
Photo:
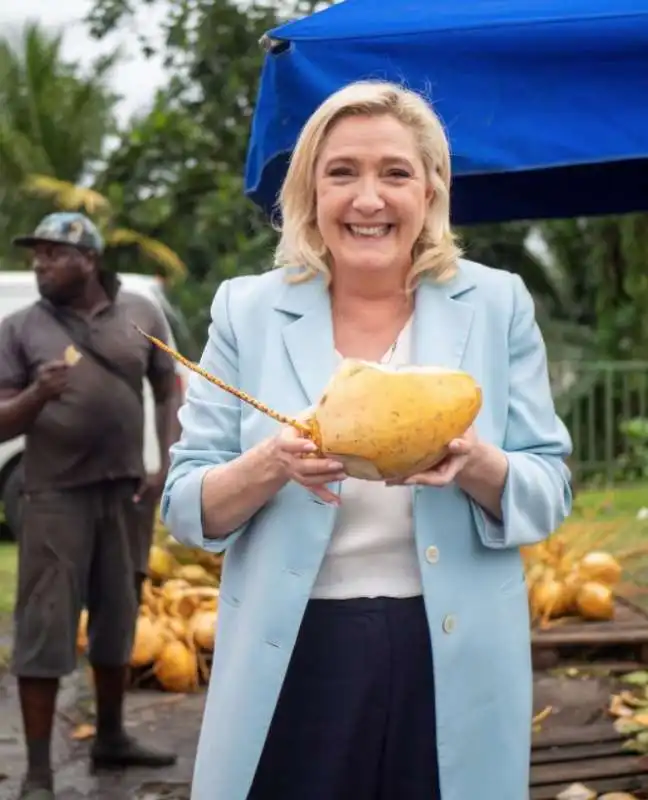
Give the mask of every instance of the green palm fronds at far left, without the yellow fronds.
<path id="1" fill-rule="evenodd" d="M 60 35 L 34 23 L 0 38 L 0 259 L 11 260 L 11 236 L 48 210 L 21 192 L 27 176 L 87 181 L 114 130 L 116 98 L 107 81 L 116 55 L 83 74 L 64 61 L 61 47 Z"/>

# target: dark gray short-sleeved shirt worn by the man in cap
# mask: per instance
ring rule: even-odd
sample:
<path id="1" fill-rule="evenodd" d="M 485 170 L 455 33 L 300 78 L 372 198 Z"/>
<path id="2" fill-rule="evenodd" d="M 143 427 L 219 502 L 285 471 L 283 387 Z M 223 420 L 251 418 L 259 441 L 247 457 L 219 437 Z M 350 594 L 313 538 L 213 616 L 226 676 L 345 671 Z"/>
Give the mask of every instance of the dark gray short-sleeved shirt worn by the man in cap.
<path id="1" fill-rule="evenodd" d="M 140 479 L 144 473 L 143 379 L 173 373 L 173 360 L 150 344 L 133 323 L 163 341 L 167 324 L 148 299 L 120 290 L 91 317 L 64 312 L 83 329 L 93 349 L 115 363 L 127 385 L 75 345 L 81 359 L 68 387 L 50 400 L 26 435 L 26 491 L 87 486 L 104 480 Z M 23 390 L 38 367 L 64 358 L 70 335 L 36 303 L 0 323 L 0 389 Z"/>

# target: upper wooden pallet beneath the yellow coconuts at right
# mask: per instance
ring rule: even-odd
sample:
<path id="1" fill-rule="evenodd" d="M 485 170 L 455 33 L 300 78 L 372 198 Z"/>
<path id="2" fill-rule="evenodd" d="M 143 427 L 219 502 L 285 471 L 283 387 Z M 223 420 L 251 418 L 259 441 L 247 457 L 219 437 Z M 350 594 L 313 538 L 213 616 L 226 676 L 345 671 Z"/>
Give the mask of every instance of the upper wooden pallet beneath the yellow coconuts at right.
<path id="1" fill-rule="evenodd" d="M 553 669 L 572 663 L 612 664 L 615 671 L 648 664 L 648 615 L 627 600 L 617 600 L 609 622 L 568 620 L 531 634 L 533 666 Z"/>

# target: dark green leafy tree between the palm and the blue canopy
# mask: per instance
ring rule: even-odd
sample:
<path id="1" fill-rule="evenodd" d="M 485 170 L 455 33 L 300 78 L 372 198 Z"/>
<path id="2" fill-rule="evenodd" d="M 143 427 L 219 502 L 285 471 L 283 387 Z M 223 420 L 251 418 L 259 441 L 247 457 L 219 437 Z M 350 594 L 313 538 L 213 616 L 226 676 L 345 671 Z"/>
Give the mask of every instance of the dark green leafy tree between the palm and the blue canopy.
<path id="1" fill-rule="evenodd" d="M 259 39 L 279 15 L 269 4 L 229 0 L 167 7 L 163 55 L 173 77 L 151 111 L 123 132 L 99 188 L 118 196 L 117 224 L 182 256 L 190 279 L 171 294 L 202 342 L 218 283 L 272 260 L 275 232 L 245 197 L 243 171 L 263 59 Z M 95 35 L 133 10 L 100 0 L 90 16 Z M 120 269 L 128 269 L 129 258 L 120 256 Z"/>

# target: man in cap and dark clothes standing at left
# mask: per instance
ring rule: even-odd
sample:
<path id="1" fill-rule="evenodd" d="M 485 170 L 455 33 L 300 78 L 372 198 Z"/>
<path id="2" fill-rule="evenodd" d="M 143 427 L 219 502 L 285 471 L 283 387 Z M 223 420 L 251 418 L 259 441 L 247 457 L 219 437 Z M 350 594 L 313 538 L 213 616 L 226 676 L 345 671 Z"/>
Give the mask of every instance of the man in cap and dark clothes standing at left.
<path id="1" fill-rule="evenodd" d="M 145 569 L 138 502 L 150 506 L 162 490 L 176 383 L 169 357 L 133 327 L 166 338 L 163 319 L 102 268 L 89 219 L 51 214 L 14 243 L 31 250 L 41 295 L 0 324 L 0 441 L 26 436 L 12 657 L 28 756 L 20 796 L 53 800 L 56 696 L 76 665 L 83 605 L 97 702 L 93 767 L 175 762 L 126 734 L 122 707 Z M 142 462 L 144 377 L 163 460 L 152 477 Z"/>

